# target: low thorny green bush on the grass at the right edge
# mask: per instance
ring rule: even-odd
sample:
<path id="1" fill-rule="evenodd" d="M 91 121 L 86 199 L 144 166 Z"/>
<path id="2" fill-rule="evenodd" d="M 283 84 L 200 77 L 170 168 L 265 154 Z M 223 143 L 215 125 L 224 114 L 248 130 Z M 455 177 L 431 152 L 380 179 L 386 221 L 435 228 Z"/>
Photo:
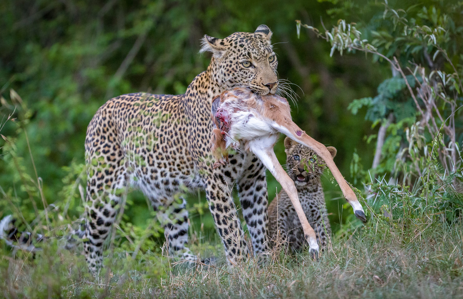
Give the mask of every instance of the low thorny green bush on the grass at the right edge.
<path id="1" fill-rule="evenodd" d="M 402 183 L 391 184 L 382 177 L 366 184 L 369 206 L 386 215 L 391 223 L 401 223 L 402 229 L 426 221 L 437 226 L 448 224 L 453 229 L 453 224 L 463 216 L 463 194 L 455 189 L 454 180 L 460 181 L 463 176 L 442 175 L 438 153 L 433 149 L 422 154 L 419 145 L 412 143 L 407 151 L 420 170 L 420 177 L 415 180 L 413 171 L 407 170 L 407 163 L 401 163 Z"/>

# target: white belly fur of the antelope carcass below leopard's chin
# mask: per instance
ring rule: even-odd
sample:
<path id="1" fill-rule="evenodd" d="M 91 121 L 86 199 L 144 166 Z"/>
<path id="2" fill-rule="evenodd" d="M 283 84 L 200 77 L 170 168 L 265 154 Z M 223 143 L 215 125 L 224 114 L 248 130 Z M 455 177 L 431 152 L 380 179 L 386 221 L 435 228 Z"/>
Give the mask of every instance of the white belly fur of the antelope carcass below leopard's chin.
<path id="1" fill-rule="evenodd" d="M 226 146 L 237 148 L 240 141 L 250 140 L 262 144 L 263 148 L 273 146 L 280 133 L 271 126 L 272 122 L 249 111 L 233 113 L 230 118 L 230 131 L 228 136 L 225 136 Z"/>

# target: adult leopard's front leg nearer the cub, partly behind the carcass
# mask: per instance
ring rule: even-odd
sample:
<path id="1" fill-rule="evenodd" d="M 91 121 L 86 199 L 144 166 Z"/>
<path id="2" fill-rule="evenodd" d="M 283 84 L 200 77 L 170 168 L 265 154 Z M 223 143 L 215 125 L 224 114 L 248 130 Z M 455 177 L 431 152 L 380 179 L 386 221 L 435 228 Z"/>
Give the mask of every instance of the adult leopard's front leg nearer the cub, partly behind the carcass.
<path id="1" fill-rule="evenodd" d="M 266 168 L 256 155 L 250 154 L 250 156 L 250 164 L 238 181 L 238 194 L 244 220 L 246 220 L 251 236 L 254 255 L 259 256 L 269 252 Z"/>

